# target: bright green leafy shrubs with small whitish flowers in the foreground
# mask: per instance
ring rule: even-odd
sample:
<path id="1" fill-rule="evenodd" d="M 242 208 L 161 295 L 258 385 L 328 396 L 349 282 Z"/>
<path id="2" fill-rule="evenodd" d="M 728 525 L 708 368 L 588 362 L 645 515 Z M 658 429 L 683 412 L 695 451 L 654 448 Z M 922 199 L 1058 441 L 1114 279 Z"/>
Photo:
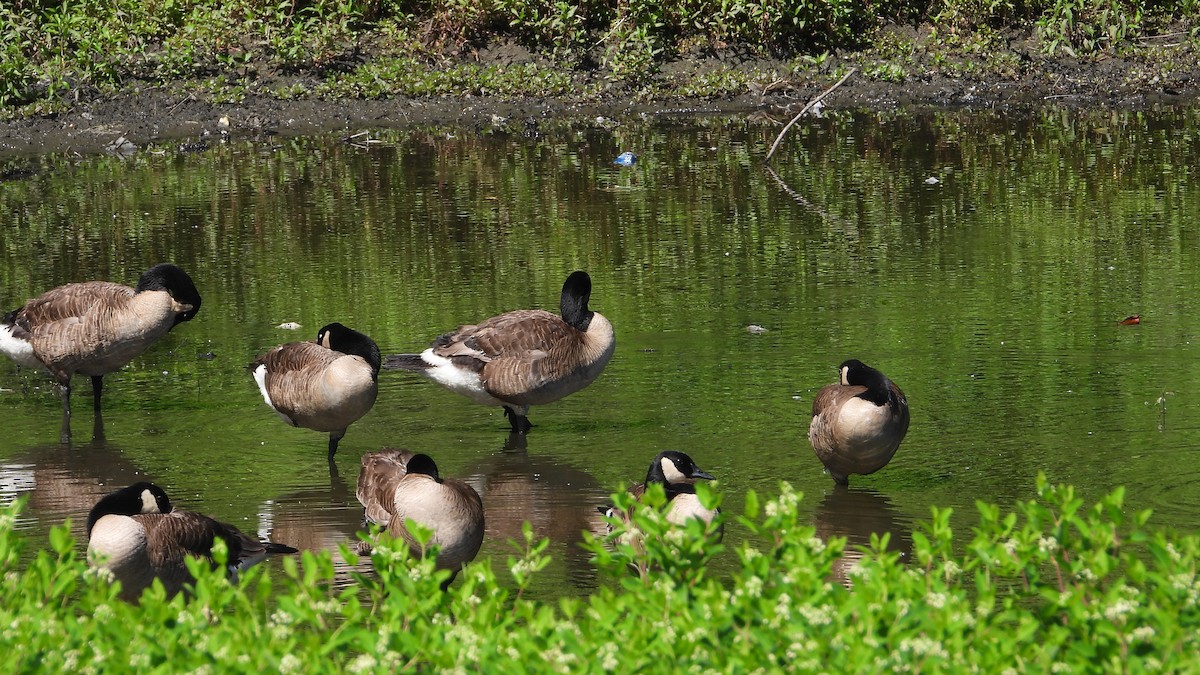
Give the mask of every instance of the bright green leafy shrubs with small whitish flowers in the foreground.
<path id="1" fill-rule="evenodd" d="M 431 562 L 384 543 L 376 573 L 341 590 L 330 556 L 306 552 L 238 585 L 197 565 L 191 598 L 156 587 L 133 607 L 65 527 L 24 555 L 17 504 L 0 516 L 0 645 L 13 673 L 1194 669 L 1200 539 L 1147 528 L 1148 512 L 1127 518 L 1121 490 L 1085 507 L 1039 478 L 1038 494 L 1013 513 L 980 503 L 961 551 L 935 508 L 911 561 L 876 540 L 846 573 L 852 590 L 834 580 L 845 540 L 800 524 L 786 484 L 748 496 L 751 537 L 728 579 L 706 573 L 700 524 L 667 528 L 643 508 L 638 536 L 588 544 L 610 583 L 557 603 L 522 597 L 547 562 L 527 528 L 504 583 L 476 562 L 440 593 Z"/>

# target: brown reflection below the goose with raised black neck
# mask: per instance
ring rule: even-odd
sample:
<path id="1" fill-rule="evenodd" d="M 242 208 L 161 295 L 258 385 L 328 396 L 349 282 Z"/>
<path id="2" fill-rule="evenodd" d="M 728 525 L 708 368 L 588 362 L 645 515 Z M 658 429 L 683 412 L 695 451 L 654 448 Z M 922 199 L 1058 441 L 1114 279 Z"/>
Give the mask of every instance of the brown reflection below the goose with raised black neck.
<path id="1" fill-rule="evenodd" d="M 480 557 L 488 549 L 511 551 L 506 542 L 522 542 L 521 527 L 528 520 L 536 538 L 546 537 L 559 549 L 552 555 L 565 562 L 571 584 L 593 589 L 595 569 L 580 544 L 584 531 L 604 533 L 595 504 L 604 503 L 608 492 L 583 470 L 530 456 L 526 443 L 526 435 L 514 432 L 503 450 L 463 472 L 484 500 L 486 537 Z"/>

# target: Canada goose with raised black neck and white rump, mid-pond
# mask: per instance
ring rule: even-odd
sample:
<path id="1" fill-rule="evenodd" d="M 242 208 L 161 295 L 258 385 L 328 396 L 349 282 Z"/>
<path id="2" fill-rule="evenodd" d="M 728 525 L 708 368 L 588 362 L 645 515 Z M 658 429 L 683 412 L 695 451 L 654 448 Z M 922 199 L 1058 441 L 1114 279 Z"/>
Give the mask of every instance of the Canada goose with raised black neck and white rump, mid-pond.
<path id="1" fill-rule="evenodd" d="M 517 310 L 446 333 L 420 354 L 388 357 L 386 368 L 419 372 L 486 406 L 504 406 L 512 430 L 529 430 L 529 406 L 550 404 L 592 384 L 617 346 L 612 324 L 588 309 L 592 277 L 563 283 L 557 317 Z"/>

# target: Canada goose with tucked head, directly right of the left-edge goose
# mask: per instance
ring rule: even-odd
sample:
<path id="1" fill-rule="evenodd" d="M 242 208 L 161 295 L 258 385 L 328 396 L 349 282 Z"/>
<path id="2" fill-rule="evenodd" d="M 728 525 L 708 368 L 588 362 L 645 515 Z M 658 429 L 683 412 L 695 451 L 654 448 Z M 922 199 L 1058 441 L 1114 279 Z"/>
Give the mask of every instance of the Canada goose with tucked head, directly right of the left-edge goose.
<path id="1" fill-rule="evenodd" d="M 374 406 L 379 347 L 366 335 L 330 323 L 314 342 L 288 342 L 250 364 L 266 405 L 292 426 L 329 431 L 329 461 L 346 429 Z"/>

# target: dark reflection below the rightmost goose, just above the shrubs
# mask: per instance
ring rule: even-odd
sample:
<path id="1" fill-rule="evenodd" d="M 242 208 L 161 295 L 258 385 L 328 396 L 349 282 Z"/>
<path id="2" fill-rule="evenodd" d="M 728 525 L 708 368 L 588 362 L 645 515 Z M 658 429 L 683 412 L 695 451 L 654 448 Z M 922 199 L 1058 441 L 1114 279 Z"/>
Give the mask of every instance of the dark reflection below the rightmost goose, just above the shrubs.
<path id="1" fill-rule="evenodd" d="M 817 536 L 824 540 L 845 537 L 846 549 L 833 566 L 834 578 L 847 589 L 853 586 L 852 569 L 863 560 L 856 546 L 869 546 L 871 534 L 889 534 L 888 551 L 906 561 L 912 552 L 912 524 L 883 494 L 870 488 L 836 485 L 817 504 L 814 515 Z"/>

